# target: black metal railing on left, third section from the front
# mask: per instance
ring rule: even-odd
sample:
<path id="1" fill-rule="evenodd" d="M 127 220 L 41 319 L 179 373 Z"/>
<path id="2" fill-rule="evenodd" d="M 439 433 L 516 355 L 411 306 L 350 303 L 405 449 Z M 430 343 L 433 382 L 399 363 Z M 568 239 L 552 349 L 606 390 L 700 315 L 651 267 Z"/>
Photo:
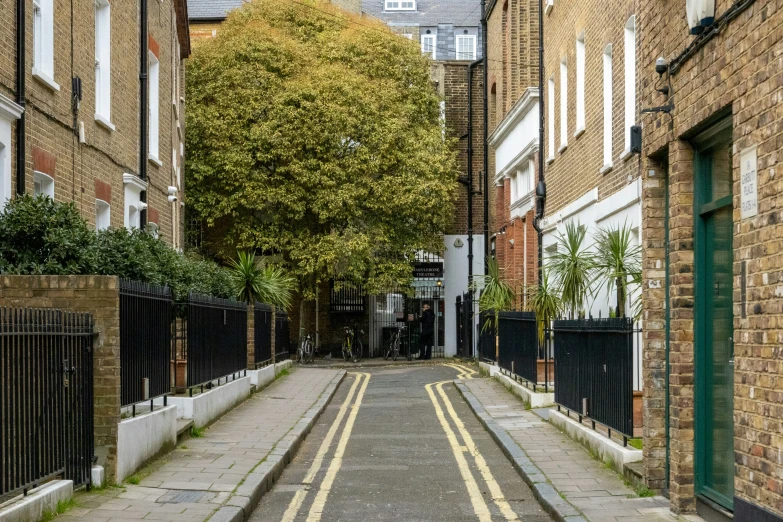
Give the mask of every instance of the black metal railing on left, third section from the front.
<path id="1" fill-rule="evenodd" d="M 184 317 L 178 319 L 178 334 L 172 350 L 175 361 L 187 361 L 186 386 L 220 384 L 247 368 L 247 305 L 191 293 L 179 303 Z M 180 383 L 175 383 L 180 386 Z"/>

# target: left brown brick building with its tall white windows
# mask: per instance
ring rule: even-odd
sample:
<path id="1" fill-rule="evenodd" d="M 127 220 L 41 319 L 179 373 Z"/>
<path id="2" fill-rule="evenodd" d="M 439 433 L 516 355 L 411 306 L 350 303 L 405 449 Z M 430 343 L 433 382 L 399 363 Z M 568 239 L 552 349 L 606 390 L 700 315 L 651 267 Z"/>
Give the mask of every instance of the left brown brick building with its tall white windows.
<path id="1" fill-rule="evenodd" d="M 147 2 L 144 140 L 140 4 L 15 3 L 0 13 L 0 206 L 46 194 L 73 202 L 97 229 L 148 226 L 180 248 L 184 0 Z"/>

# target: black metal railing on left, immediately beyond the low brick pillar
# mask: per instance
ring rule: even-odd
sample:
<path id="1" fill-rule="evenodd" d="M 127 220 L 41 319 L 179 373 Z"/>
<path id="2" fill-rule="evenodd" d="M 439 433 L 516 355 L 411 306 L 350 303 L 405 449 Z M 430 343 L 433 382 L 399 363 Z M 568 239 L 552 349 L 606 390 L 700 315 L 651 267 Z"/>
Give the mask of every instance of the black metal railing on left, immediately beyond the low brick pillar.
<path id="1" fill-rule="evenodd" d="M 121 405 L 171 391 L 173 300 L 168 287 L 120 280 Z"/>

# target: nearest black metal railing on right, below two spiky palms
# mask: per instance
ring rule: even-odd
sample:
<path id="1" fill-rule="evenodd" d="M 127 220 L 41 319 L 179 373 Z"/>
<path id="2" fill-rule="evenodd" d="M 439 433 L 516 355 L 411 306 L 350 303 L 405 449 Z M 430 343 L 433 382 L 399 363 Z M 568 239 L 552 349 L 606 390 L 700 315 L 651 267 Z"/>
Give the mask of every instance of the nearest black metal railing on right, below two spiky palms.
<path id="1" fill-rule="evenodd" d="M 558 407 L 633 437 L 634 323 L 628 318 L 554 321 Z M 638 334 L 637 334 L 638 335 Z"/>

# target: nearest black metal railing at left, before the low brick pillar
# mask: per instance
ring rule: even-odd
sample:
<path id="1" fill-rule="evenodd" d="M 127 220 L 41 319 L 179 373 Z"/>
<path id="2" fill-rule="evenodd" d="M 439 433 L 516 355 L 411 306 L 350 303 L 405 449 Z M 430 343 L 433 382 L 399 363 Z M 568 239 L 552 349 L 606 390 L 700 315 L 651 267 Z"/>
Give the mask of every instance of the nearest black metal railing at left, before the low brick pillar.
<path id="1" fill-rule="evenodd" d="M 54 477 L 91 483 L 93 323 L 0 308 L 0 502 Z"/>

